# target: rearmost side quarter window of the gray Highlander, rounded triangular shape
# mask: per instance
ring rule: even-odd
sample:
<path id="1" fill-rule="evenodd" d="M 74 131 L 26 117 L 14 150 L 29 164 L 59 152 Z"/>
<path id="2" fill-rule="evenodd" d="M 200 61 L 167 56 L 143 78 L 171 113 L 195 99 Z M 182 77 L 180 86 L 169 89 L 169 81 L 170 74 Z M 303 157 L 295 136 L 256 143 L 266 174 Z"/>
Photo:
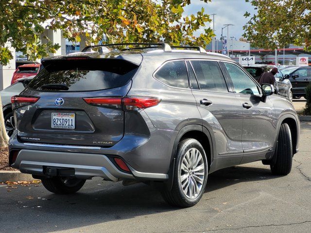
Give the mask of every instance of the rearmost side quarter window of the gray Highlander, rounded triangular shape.
<path id="1" fill-rule="evenodd" d="M 187 68 L 184 61 L 166 63 L 155 73 L 155 78 L 170 86 L 189 87 Z"/>

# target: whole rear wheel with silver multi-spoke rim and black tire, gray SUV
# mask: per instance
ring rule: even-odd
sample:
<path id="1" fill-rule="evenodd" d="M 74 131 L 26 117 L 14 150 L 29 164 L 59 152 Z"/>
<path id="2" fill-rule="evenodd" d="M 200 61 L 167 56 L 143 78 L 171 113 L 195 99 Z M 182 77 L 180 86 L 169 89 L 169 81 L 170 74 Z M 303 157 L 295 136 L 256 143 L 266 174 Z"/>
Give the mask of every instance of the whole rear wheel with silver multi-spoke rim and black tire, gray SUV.
<path id="1" fill-rule="evenodd" d="M 189 158 L 196 161 L 193 163 Z M 186 166 L 187 163 L 188 166 Z M 196 170 L 192 171 L 192 169 Z M 163 199 L 168 204 L 178 207 L 195 205 L 204 194 L 207 184 L 207 169 L 207 157 L 202 145 L 193 138 L 182 140 L 177 147 L 172 189 L 162 190 Z M 182 185 L 184 185 L 186 193 Z"/>

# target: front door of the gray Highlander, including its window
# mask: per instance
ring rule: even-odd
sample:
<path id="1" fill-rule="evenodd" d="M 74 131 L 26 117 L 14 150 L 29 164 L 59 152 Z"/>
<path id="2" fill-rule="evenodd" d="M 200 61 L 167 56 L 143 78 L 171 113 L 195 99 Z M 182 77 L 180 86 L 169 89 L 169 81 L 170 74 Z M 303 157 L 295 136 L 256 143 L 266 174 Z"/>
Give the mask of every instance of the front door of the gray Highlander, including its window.
<path id="1" fill-rule="evenodd" d="M 269 98 L 265 102 L 261 100 L 259 85 L 241 67 L 233 63 L 224 64 L 243 108 L 242 163 L 263 159 L 273 150 L 275 142 L 273 104 Z"/>

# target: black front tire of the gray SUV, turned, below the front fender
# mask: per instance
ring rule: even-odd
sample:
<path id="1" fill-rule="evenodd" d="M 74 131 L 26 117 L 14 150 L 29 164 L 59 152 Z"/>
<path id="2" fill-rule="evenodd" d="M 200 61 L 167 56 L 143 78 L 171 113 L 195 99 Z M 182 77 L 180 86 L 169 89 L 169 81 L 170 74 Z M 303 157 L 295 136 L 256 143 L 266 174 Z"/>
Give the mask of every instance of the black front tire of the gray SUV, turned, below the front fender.
<path id="1" fill-rule="evenodd" d="M 284 176 L 291 172 L 293 163 L 292 134 L 288 124 L 281 124 L 277 140 L 276 162 L 270 168 L 272 174 Z"/>

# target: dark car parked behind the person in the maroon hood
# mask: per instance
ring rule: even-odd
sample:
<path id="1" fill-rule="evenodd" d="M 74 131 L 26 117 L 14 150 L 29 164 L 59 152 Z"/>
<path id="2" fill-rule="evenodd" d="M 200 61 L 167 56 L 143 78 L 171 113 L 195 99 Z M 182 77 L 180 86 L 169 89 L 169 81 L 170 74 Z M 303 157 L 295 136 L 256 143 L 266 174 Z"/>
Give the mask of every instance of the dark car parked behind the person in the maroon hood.
<path id="1" fill-rule="evenodd" d="M 255 78 L 259 80 L 260 76 L 264 72 L 270 72 L 274 66 L 270 65 L 250 65 L 244 66 L 244 68 Z M 289 81 L 288 76 L 284 76 L 282 71 L 278 69 L 278 73 L 275 75 L 276 82 L 274 84 L 276 93 L 286 97 L 289 100 L 293 100 L 293 87 Z"/>

